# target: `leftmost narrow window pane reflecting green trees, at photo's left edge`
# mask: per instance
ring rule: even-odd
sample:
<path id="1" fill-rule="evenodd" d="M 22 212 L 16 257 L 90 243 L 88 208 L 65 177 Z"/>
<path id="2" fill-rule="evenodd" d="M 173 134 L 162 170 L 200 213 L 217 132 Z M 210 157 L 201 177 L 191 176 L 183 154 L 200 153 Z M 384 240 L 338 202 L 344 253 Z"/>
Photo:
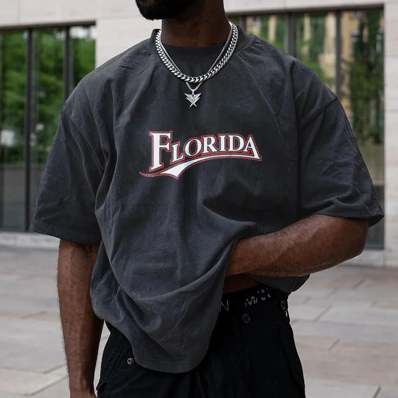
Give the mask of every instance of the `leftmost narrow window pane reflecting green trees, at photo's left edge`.
<path id="1" fill-rule="evenodd" d="M 24 225 L 26 34 L 0 33 L 0 228 Z"/>

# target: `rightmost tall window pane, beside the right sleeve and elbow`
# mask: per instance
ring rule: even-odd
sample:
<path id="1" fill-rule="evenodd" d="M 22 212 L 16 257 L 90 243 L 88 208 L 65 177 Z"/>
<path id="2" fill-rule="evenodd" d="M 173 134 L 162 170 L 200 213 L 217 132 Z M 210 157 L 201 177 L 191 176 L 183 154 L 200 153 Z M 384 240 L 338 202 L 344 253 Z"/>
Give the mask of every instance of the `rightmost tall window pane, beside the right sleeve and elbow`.
<path id="1" fill-rule="evenodd" d="M 384 200 L 383 10 L 343 12 L 342 103 L 379 199 Z M 384 222 L 369 230 L 368 247 L 383 248 Z"/>

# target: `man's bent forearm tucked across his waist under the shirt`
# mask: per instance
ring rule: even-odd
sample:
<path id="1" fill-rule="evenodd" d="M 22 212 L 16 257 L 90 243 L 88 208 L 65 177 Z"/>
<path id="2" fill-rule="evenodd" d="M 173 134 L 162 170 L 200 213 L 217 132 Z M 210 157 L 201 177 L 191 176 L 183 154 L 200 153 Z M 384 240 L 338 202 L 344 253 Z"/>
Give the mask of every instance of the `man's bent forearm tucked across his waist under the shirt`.
<path id="1" fill-rule="evenodd" d="M 367 234 L 367 219 L 316 214 L 280 231 L 239 240 L 227 276 L 312 274 L 361 254 Z"/>

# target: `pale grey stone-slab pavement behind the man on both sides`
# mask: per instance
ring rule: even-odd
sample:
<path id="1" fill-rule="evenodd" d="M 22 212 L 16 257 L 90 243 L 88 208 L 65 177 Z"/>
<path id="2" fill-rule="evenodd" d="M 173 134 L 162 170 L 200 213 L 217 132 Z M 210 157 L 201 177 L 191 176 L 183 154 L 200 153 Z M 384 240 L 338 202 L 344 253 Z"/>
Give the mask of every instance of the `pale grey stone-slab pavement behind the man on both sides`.
<path id="1" fill-rule="evenodd" d="M 56 260 L 0 247 L 0 398 L 69 398 Z M 335 267 L 289 303 L 307 398 L 398 398 L 398 270 Z"/>

